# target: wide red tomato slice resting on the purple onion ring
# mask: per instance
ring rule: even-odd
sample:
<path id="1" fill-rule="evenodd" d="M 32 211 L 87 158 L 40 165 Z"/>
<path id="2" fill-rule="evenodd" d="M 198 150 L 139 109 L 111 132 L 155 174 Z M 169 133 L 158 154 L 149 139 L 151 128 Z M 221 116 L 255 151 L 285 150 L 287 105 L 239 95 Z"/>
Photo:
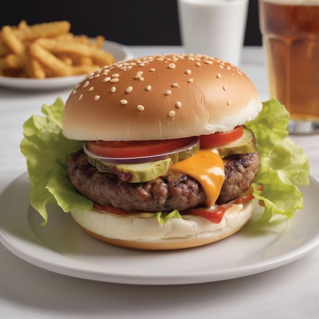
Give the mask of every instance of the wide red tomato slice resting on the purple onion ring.
<path id="1" fill-rule="evenodd" d="M 171 152 L 193 138 L 157 141 L 88 141 L 89 151 L 105 157 L 142 157 Z"/>

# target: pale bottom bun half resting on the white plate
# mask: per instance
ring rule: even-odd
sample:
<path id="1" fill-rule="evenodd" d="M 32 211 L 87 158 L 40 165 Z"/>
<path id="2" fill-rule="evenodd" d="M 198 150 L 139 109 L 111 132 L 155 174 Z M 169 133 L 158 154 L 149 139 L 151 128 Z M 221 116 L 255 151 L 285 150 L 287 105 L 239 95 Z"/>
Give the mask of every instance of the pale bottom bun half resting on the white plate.
<path id="1" fill-rule="evenodd" d="M 254 207 L 254 200 L 231 205 L 219 224 L 192 215 L 171 218 L 161 224 L 143 214 L 123 216 L 95 209 L 73 209 L 71 215 L 81 228 L 100 241 L 140 250 L 174 250 L 214 243 L 232 235 L 248 222 Z"/>

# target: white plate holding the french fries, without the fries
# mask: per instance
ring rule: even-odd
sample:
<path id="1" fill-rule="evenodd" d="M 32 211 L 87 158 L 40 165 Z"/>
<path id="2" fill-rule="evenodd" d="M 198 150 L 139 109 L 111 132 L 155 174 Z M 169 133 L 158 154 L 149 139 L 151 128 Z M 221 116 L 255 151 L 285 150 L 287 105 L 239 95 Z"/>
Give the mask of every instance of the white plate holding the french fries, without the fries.
<path id="1" fill-rule="evenodd" d="M 127 46 L 116 42 L 104 41 L 103 49 L 112 53 L 116 61 L 125 61 L 133 58 L 132 52 Z M 0 86 L 23 90 L 56 90 L 75 87 L 83 78 L 84 75 L 45 79 L 0 76 Z"/>

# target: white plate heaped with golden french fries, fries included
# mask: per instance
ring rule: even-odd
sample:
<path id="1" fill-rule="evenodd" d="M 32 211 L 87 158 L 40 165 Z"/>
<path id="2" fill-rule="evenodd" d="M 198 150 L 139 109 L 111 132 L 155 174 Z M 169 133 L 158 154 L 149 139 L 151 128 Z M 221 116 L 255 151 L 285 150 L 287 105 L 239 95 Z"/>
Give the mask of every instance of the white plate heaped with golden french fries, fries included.
<path id="1" fill-rule="evenodd" d="M 0 30 L 0 86 L 61 89 L 75 86 L 86 74 L 133 56 L 103 36 L 70 32 L 68 21 L 4 25 Z"/>

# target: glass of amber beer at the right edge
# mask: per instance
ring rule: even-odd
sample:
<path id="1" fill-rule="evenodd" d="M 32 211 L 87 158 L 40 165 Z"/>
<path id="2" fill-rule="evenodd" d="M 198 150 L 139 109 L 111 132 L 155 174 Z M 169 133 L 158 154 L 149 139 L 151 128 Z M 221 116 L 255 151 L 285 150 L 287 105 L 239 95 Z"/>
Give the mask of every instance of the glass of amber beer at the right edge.
<path id="1" fill-rule="evenodd" d="M 269 89 L 290 113 L 289 132 L 319 132 L 319 0 L 259 0 Z"/>

